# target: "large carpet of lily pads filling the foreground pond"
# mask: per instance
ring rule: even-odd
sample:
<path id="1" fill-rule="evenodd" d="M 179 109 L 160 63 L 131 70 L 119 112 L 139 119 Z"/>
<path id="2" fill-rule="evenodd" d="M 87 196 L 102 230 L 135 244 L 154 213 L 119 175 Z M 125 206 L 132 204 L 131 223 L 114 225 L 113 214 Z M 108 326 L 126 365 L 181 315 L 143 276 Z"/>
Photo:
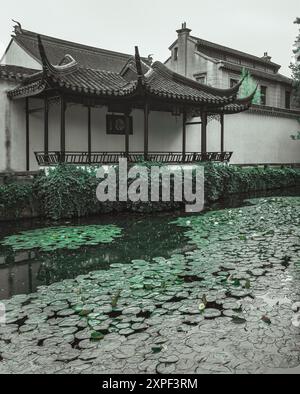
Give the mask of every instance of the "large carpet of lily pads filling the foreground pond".
<path id="1" fill-rule="evenodd" d="M 300 199 L 177 224 L 194 251 L 114 264 L 5 301 L 0 373 L 297 370 Z"/>

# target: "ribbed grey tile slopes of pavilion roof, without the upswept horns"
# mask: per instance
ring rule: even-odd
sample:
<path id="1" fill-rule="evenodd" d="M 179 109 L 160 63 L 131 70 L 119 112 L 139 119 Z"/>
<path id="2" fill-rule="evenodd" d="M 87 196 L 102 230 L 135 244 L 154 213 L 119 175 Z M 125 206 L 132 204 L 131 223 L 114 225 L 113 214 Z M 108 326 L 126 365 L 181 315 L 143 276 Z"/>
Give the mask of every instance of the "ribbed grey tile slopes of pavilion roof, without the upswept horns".
<path id="1" fill-rule="evenodd" d="M 19 93 L 24 93 L 24 89 L 44 78 L 44 73 L 33 74 L 24 80 L 23 86 L 10 92 L 11 97 L 17 97 Z M 59 87 L 72 92 L 86 93 L 89 95 L 104 96 L 128 96 L 135 94 L 138 89 L 138 80 L 128 82 L 119 73 L 93 70 L 89 68 L 77 67 L 71 72 L 54 73 L 47 72 L 48 84 L 53 88 Z M 146 74 L 143 81 L 145 92 L 150 95 L 166 99 L 183 100 L 194 103 L 229 103 L 236 98 L 238 89 L 220 91 L 201 85 L 195 81 L 186 84 L 180 76 L 171 73 L 161 63 L 154 63 L 150 72 Z M 30 88 L 30 93 L 33 90 Z M 37 94 L 40 93 L 38 89 Z"/>

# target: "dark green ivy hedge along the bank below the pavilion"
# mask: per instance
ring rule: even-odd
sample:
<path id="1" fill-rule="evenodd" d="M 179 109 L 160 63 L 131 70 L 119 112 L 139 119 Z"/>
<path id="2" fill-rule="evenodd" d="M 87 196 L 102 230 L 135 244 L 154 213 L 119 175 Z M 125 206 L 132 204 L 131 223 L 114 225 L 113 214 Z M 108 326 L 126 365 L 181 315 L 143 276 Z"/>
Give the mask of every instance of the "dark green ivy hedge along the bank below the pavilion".
<path id="1" fill-rule="evenodd" d="M 150 170 L 153 163 L 143 163 Z M 240 168 L 205 164 L 206 201 L 214 202 L 231 194 L 300 186 L 300 170 L 291 168 Z M 0 187 L 0 216 L 19 217 L 25 208 L 38 202 L 40 215 L 53 220 L 83 217 L 102 212 L 158 212 L 180 208 L 169 203 L 100 203 L 96 197 L 95 168 L 61 165 L 41 173 L 34 184 L 12 183 Z M 5 213 L 5 215 L 4 215 Z"/>

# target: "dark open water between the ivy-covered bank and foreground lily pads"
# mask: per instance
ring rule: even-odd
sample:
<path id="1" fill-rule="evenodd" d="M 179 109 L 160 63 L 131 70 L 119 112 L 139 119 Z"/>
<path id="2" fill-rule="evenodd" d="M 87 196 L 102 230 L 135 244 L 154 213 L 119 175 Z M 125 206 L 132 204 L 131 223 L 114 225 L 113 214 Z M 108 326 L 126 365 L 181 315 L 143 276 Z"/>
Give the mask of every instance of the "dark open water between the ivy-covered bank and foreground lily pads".
<path id="1" fill-rule="evenodd" d="M 245 205 L 247 198 L 270 196 L 300 196 L 300 188 L 251 195 L 232 196 L 208 209 L 234 208 Z M 14 253 L 0 246 L 0 299 L 16 294 L 35 292 L 40 285 L 72 279 L 91 271 L 109 269 L 110 264 L 129 264 L 132 260 L 150 261 L 154 257 L 170 257 L 190 250 L 184 228 L 170 222 L 182 212 L 135 215 L 115 214 L 68 222 L 69 224 L 115 224 L 123 229 L 123 237 L 112 244 L 86 247 L 80 250 L 59 250 L 52 253 L 38 251 Z M 66 225 L 66 222 L 59 223 Z M 24 230 L 57 226 L 45 220 L 0 223 L 0 242 Z"/>

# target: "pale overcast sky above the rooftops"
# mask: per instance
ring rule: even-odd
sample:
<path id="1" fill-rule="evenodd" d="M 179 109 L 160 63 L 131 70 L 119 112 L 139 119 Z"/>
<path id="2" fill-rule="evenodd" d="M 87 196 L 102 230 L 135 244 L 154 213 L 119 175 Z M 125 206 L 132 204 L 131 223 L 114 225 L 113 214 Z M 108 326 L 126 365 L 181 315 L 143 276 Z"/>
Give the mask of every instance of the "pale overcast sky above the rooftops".
<path id="1" fill-rule="evenodd" d="M 9 43 L 11 19 L 24 29 L 155 60 L 169 56 L 175 30 L 186 21 L 192 34 L 257 56 L 268 51 L 289 74 L 300 17 L 299 0 L 14 0 L 1 1 L 0 52 Z"/>

